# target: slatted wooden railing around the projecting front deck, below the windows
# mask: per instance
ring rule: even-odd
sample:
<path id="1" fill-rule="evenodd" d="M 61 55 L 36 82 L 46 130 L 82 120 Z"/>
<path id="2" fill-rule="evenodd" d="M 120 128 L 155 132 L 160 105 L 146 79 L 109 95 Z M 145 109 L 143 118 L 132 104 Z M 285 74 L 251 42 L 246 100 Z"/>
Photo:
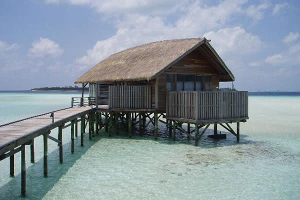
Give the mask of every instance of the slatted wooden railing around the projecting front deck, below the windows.
<path id="1" fill-rule="evenodd" d="M 247 91 L 170 91 L 166 115 L 192 120 L 248 117 Z"/>

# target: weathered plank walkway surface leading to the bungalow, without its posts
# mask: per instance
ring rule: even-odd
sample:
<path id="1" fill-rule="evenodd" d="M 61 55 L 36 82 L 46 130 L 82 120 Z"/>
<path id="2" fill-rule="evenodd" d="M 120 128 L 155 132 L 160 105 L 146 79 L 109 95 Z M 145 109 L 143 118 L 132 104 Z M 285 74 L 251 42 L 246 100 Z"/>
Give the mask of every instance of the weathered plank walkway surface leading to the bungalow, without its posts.
<path id="1" fill-rule="evenodd" d="M 0 157 L 3 153 L 30 141 L 45 131 L 53 129 L 80 115 L 84 115 L 89 112 L 90 109 L 90 106 L 83 106 L 53 111 L 53 123 L 52 117 L 50 117 L 52 112 L 50 112 L 0 125 Z"/>

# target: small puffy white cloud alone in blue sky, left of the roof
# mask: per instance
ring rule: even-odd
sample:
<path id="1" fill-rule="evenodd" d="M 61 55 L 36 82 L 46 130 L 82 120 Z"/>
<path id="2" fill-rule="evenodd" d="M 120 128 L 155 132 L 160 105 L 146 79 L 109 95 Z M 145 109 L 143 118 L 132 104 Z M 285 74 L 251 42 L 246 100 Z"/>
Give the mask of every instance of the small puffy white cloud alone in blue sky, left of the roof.
<path id="1" fill-rule="evenodd" d="M 29 48 L 29 55 L 33 57 L 43 57 L 45 55 L 60 56 L 62 53 L 63 50 L 59 47 L 59 44 L 43 37 L 33 42 L 32 47 Z"/>

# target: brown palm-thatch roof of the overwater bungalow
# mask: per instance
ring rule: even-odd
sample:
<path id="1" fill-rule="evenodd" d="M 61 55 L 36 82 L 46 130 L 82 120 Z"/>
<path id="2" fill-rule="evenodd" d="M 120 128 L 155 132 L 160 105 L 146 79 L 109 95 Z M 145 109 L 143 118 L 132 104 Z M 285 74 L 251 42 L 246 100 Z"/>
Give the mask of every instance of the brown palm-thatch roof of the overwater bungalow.
<path id="1" fill-rule="evenodd" d="M 77 78 L 75 83 L 154 79 L 199 46 L 212 55 L 220 72 L 220 81 L 234 80 L 208 40 L 200 37 L 156 41 L 114 53 Z"/>

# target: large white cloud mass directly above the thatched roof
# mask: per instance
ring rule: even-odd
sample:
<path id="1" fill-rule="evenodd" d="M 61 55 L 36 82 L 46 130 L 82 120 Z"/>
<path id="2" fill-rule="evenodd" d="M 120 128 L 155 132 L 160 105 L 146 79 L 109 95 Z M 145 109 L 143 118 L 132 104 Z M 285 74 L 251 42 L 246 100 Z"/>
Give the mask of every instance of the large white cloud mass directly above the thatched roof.
<path id="1" fill-rule="evenodd" d="M 84 56 L 77 58 L 76 62 L 81 65 L 81 69 L 85 69 L 114 52 L 145 42 L 203 36 L 211 29 L 222 27 L 235 15 L 251 15 L 244 13 L 242 5 L 245 2 L 246 0 L 224 0 L 210 6 L 198 1 L 189 3 L 189 6 L 173 23 L 165 22 L 164 17 L 159 15 L 126 14 L 115 23 L 117 31 L 113 36 L 97 41 Z M 261 12 L 266 6 L 264 3 L 261 6 L 257 5 L 255 10 Z M 258 36 L 247 33 L 239 26 L 224 28 L 217 32 L 210 31 L 205 35 L 217 44 L 217 48 L 223 54 L 234 52 L 235 49 L 239 49 L 236 52 L 251 52 L 262 43 Z M 230 41 L 224 42 L 222 36 Z"/>

